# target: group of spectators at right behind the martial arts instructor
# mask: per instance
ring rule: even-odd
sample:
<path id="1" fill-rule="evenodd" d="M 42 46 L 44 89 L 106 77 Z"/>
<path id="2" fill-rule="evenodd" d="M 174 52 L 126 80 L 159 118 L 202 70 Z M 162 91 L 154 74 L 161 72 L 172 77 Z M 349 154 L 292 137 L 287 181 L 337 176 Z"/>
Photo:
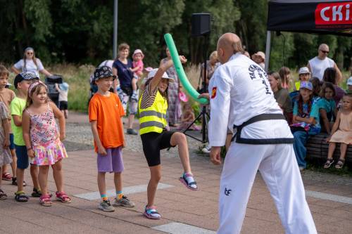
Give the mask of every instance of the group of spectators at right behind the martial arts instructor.
<path id="1" fill-rule="evenodd" d="M 339 84 L 342 74 L 336 63 L 327 58 L 328 53 L 329 46 L 320 45 L 318 56 L 298 70 L 297 82 L 292 82 L 288 67 L 268 72 L 275 99 L 294 134 L 294 151 L 301 171 L 306 168 L 305 145 L 309 136 L 319 133 L 327 136 L 325 169 L 334 163 L 332 155 L 337 143 L 341 147 L 337 169 L 344 166 L 348 145 L 352 144 L 352 77 L 347 79 L 347 89 L 342 89 Z"/>

